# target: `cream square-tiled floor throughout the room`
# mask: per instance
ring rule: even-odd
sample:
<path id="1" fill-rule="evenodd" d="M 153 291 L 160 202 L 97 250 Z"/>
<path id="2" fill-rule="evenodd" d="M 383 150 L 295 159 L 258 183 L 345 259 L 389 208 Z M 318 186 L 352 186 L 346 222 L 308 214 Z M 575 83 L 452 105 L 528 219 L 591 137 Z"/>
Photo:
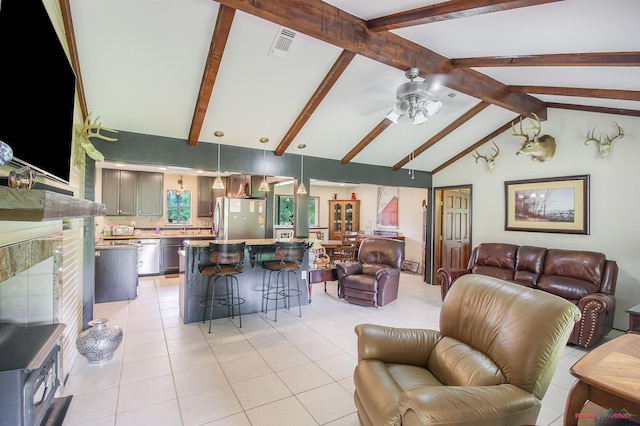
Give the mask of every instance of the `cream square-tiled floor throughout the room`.
<path id="1" fill-rule="evenodd" d="M 96 305 L 95 318 L 122 327 L 124 339 L 101 365 L 78 356 L 64 386 L 73 395 L 64 426 L 357 425 L 354 326 L 437 328 L 440 287 L 403 273 L 398 300 L 384 309 L 340 301 L 336 282 L 313 290 L 302 318 L 244 315 L 242 328 L 221 319 L 209 334 L 208 323 L 182 323 L 176 276 L 141 278 L 136 300 Z M 562 425 L 569 368 L 584 354 L 567 346 L 539 425 Z"/>

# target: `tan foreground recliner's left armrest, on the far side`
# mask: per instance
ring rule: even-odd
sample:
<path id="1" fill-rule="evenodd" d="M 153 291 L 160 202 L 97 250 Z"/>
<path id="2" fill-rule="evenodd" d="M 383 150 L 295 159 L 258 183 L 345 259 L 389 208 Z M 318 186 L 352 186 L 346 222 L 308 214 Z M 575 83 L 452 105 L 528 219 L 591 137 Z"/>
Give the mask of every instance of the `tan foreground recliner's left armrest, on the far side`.
<path id="1" fill-rule="evenodd" d="M 441 339 L 437 330 L 395 328 L 358 324 L 358 360 L 425 366 L 431 351 Z"/>

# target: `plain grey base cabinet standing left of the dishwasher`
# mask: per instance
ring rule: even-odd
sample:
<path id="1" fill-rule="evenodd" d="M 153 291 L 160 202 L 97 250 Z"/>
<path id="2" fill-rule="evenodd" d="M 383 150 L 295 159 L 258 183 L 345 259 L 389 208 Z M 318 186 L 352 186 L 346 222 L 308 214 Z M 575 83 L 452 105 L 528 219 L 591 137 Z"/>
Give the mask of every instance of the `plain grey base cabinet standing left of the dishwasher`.
<path id="1" fill-rule="evenodd" d="M 95 303 L 133 300 L 138 294 L 138 248 L 95 250 Z"/>

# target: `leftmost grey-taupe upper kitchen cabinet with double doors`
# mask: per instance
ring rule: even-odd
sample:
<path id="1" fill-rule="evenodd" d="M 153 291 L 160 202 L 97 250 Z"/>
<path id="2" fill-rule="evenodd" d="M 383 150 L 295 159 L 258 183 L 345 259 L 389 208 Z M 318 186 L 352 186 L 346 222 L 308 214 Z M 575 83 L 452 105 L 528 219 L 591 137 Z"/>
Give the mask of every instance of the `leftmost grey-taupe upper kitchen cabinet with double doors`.
<path id="1" fill-rule="evenodd" d="M 138 174 L 102 169 L 102 202 L 107 216 L 135 216 Z"/>

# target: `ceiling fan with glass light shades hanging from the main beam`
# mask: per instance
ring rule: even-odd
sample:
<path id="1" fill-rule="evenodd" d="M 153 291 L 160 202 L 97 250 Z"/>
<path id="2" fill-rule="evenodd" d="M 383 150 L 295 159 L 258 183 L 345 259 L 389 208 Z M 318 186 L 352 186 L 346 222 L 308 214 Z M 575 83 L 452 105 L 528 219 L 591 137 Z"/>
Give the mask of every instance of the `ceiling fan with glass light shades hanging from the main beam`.
<path id="1" fill-rule="evenodd" d="M 409 81 L 398 86 L 396 90 L 398 101 L 386 117 L 397 124 L 400 117 L 407 115 L 412 124 L 422 124 L 429 117 L 440 112 L 442 102 L 431 93 L 428 83 L 416 80 L 420 75 L 418 68 L 409 68 L 405 70 L 404 75 Z"/>

